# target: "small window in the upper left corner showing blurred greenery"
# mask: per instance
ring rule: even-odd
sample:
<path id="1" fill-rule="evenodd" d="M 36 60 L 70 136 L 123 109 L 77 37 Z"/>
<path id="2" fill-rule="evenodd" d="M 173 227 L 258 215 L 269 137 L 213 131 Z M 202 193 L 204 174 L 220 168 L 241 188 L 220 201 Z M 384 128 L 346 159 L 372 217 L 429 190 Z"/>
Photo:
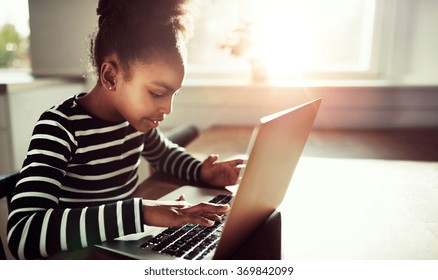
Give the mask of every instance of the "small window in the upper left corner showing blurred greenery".
<path id="1" fill-rule="evenodd" d="M 29 69 L 27 0 L 0 0 L 0 68 Z"/>

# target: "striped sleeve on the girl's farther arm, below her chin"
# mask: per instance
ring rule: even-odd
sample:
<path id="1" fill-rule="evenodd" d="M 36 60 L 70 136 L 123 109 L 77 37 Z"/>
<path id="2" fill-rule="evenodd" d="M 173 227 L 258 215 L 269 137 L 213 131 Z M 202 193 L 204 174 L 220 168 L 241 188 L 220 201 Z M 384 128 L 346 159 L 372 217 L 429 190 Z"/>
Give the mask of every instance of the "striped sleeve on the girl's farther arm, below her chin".
<path id="1" fill-rule="evenodd" d="M 158 129 L 151 129 L 146 134 L 142 155 L 157 170 L 181 179 L 201 181 L 202 162 L 167 139 Z"/>

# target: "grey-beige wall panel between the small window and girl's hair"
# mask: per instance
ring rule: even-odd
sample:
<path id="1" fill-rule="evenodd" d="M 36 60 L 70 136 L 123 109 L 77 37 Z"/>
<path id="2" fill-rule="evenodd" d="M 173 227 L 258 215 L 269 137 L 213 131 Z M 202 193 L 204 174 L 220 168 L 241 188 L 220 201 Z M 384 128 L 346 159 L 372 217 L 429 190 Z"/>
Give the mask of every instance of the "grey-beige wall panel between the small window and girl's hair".
<path id="1" fill-rule="evenodd" d="M 89 35 L 97 0 L 29 0 L 33 74 L 81 76 L 88 67 Z"/>

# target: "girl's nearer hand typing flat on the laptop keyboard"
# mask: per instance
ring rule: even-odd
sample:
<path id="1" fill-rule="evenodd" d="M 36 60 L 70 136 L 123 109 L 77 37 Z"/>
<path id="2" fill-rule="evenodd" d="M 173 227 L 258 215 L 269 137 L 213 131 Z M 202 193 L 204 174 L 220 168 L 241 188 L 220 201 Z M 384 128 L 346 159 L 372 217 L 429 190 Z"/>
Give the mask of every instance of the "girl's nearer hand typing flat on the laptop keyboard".
<path id="1" fill-rule="evenodd" d="M 212 226 L 220 221 L 230 206 L 201 202 L 192 205 L 181 196 L 177 201 L 143 199 L 143 222 L 157 227 L 179 227 L 184 224 Z"/>

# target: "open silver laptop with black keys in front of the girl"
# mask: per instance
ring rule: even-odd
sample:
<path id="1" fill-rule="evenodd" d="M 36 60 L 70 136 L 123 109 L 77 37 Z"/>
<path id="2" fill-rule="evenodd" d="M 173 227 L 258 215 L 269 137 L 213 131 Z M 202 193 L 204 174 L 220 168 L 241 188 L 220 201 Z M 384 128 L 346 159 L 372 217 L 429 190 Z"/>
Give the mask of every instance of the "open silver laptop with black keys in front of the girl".
<path id="1" fill-rule="evenodd" d="M 260 119 L 248 145 L 237 185 L 225 189 L 182 186 L 160 198 L 229 203 L 212 227 L 145 227 L 145 232 L 96 245 L 134 259 L 227 259 L 276 210 L 289 187 L 321 99 Z"/>

